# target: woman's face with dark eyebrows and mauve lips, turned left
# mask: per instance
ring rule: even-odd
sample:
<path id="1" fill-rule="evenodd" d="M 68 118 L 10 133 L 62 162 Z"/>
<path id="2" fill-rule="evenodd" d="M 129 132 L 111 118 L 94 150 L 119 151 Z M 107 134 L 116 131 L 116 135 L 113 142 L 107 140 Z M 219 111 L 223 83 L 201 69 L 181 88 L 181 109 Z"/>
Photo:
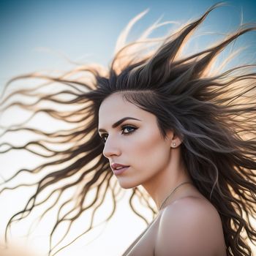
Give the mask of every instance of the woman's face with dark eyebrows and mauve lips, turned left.
<path id="1" fill-rule="evenodd" d="M 132 119 L 113 127 L 128 117 Z M 110 166 L 113 163 L 129 166 L 116 174 L 123 188 L 150 182 L 170 163 L 170 140 L 162 138 L 156 116 L 127 102 L 121 93 L 112 94 L 102 102 L 99 135 L 105 140 L 103 154 L 109 159 Z"/>

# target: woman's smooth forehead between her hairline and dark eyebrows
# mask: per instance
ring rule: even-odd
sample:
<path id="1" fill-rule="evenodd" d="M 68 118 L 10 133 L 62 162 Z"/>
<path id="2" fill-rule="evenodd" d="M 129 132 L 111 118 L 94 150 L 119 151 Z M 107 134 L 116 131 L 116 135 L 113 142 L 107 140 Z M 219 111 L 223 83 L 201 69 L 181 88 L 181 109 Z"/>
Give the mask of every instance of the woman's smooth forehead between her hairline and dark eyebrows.
<path id="1" fill-rule="evenodd" d="M 115 93 L 102 102 L 99 108 L 99 127 L 111 125 L 125 116 L 140 118 L 140 120 L 153 120 L 154 115 L 127 102 L 123 94 Z"/>

